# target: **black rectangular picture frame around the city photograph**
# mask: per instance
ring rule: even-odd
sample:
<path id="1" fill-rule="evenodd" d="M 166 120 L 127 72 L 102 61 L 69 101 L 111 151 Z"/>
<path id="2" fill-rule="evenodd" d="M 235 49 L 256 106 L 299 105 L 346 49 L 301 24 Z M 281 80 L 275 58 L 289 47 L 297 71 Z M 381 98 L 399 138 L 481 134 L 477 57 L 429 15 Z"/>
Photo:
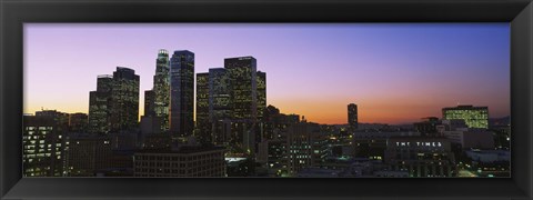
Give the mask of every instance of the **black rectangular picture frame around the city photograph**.
<path id="1" fill-rule="evenodd" d="M 530 0 L 0 0 L 2 199 L 505 199 L 533 197 Z M 510 22 L 512 178 L 22 178 L 24 22 Z"/>

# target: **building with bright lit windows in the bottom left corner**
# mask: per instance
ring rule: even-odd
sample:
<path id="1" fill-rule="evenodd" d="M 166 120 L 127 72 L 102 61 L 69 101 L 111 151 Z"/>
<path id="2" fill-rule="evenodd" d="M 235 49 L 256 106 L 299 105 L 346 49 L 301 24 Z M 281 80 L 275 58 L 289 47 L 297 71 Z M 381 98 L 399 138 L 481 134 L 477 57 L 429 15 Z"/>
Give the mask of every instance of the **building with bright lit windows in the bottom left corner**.
<path id="1" fill-rule="evenodd" d="M 50 116 L 24 116 L 22 166 L 24 177 L 61 177 L 64 172 L 67 127 Z"/>

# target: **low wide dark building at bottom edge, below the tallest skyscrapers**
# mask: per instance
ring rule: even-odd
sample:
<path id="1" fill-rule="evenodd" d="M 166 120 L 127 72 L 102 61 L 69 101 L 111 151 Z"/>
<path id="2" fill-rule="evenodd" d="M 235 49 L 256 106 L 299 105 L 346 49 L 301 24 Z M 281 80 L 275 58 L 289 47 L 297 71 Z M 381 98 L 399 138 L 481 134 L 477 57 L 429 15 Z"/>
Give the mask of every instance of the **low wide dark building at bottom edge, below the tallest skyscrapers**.
<path id="1" fill-rule="evenodd" d="M 224 149 L 181 147 L 134 153 L 134 177 L 225 177 Z"/>

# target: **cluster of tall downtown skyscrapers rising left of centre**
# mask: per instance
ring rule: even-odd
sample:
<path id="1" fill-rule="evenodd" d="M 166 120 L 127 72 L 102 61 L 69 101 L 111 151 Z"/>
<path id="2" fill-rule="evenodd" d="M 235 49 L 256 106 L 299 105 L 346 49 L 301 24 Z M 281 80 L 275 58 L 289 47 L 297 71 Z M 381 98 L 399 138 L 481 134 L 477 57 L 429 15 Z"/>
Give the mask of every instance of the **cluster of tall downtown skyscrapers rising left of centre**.
<path id="1" fill-rule="evenodd" d="M 266 74 L 253 57 L 224 59 L 224 68 L 197 73 L 194 53 L 160 50 L 153 89 L 144 92 L 141 130 L 168 133 L 173 143 L 227 146 L 231 152 L 253 153 L 266 107 Z M 194 121 L 194 100 L 197 111 Z M 139 76 L 118 67 L 99 76 L 90 92 L 89 132 L 123 132 L 139 128 Z M 258 138 L 259 139 L 259 138 Z"/>

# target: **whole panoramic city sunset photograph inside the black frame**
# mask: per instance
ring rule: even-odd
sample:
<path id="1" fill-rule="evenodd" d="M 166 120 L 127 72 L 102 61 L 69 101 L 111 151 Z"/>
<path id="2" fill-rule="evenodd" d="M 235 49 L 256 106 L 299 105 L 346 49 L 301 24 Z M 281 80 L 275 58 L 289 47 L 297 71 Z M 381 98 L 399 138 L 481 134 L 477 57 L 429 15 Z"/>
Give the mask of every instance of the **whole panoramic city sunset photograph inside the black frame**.
<path id="1" fill-rule="evenodd" d="M 24 177 L 510 178 L 510 23 L 24 23 Z"/>

